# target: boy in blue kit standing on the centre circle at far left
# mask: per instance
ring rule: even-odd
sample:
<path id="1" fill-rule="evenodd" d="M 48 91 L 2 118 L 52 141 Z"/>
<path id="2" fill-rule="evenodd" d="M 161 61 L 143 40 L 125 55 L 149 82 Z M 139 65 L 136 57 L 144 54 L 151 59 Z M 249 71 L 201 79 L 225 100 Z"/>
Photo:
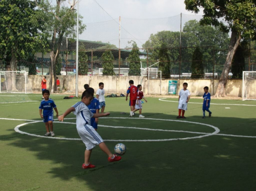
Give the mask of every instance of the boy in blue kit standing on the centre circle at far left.
<path id="1" fill-rule="evenodd" d="M 55 105 L 54 101 L 49 98 L 50 96 L 49 90 L 47 89 L 43 90 L 42 94 L 44 99 L 40 103 L 39 114 L 43 119 L 43 122 L 45 123 L 46 134 L 44 136 L 51 135 L 52 137 L 54 137 L 55 134 L 53 132 L 53 108 L 56 111 L 56 117 L 58 117 L 57 106 Z M 43 115 L 42 115 L 42 110 L 43 110 Z M 51 130 L 51 132 L 49 132 L 49 129 Z"/>

